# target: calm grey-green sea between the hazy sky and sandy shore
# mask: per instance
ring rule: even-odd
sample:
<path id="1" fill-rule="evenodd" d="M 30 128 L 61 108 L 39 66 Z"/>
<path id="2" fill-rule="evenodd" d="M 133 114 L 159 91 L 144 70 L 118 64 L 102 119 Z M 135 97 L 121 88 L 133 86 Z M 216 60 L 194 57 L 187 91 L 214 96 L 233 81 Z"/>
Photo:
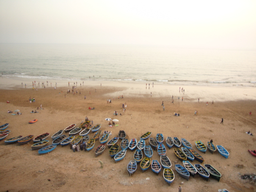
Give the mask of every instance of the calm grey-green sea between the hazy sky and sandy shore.
<path id="1" fill-rule="evenodd" d="M 0 73 L 11 78 L 256 86 L 256 50 L 166 46 L 0 44 Z"/>

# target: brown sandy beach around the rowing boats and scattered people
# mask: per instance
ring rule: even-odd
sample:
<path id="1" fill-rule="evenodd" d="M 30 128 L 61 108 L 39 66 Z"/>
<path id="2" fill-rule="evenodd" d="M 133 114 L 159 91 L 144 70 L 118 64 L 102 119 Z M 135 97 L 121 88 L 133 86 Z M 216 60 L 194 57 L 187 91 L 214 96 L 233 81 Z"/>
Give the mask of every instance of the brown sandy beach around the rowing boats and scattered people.
<path id="1" fill-rule="evenodd" d="M 256 191 L 254 183 L 240 179 L 240 175 L 256 173 L 256 158 L 248 152 L 248 149 L 256 150 L 255 88 L 182 87 L 182 85 L 165 83 L 155 83 L 154 88 L 150 83 L 149 88 L 142 82 L 84 81 L 84 84 L 78 82 L 74 89 L 78 94 L 67 94 L 68 89 L 72 92 L 74 82 L 70 82 L 68 86 L 67 81 L 48 80 L 47 86 L 45 80 L 46 88 L 44 88 L 42 82 L 38 86 L 38 81 L 36 80 L 33 90 L 32 79 L 21 81 L 19 78 L 1 77 L 0 122 L 1 125 L 9 123 L 7 130 L 11 131 L 6 139 L 18 135 L 38 136 L 45 132 L 52 136 L 70 124 L 80 125 L 87 116 L 89 120 L 93 120 L 93 125 L 101 124 L 101 130 L 111 131 L 110 138 L 118 136 L 119 130 L 124 130 L 128 140 L 132 138 L 139 140 L 142 134 L 150 131 L 153 138 L 158 133 L 162 133 L 164 138 L 167 136 L 185 138 L 196 151 L 198 150 L 195 141 L 201 140 L 207 144 L 212 139 L 215 146 L 224 146 L 230 155 L 226 159 L 218 152 L 211 154 L 206 151 L 204 154 L 198 151 L 205 160 L 202 165 L 211 164 L 222 174 L 222 177 L 220 182 L 212 178 L 205 181 L 197 175 L 187 181 L 181 178 L 174 168 L 176 163 L 182 165 L 182 162 L 176 158 L 172 149 L 168 149 L 167 156 L 172 162 L 172 170 L 175 174 L 175 180 L 169 186 L 164 181 L 163 172 L 156 175 L 151 168 L 142 172 L 138 166 L 136 172 L 130 176 L 126 169 L 128 162 L 133 160 L 134 152 L 130 150 L 127 150 L 125 158 L 117 163 L 110 158 L 107 148 L 103 154 L 95 157 L 94 150 L 100 145 L 99 141 L 96 141 L 90 152 L 73 152 L 69 146 L 57 146 L 48 154 L 38 155 L 38 150 L 31 150 L 32 142 L 18 146 L 5 145 L 2 140 L 0 141 L 2 164 L 0 191 L 168 190 L 176 192 L 180 184 L 182 184 L 182 192 L 217 192 L 218 189 L 223 188 L 230 192 Z M 181 93 L 181 88 L 179 92 L 179 87 L 185 92 Z M 84 99 L 85 95 L 86 99 Z M 122 95 L 124 98 L 118 98 Z M 36 102 L 30 104 L 30 97 L 35 98 Z M 198 98 L 200 98 L 199 102 Z M 112 103 L 107 103 L 107 99 L 111 99 Z M 6 103 L 7 100 L 10 103 Z M 165 111 L 161 105 L 162 101 Z M 122 104 L 125 103 L 127 107 L 123 112 Z M 40 108 L 40 104 L 44 110 L 30 113 L 37 107 Z M 94 107 L 95 110 L 89 110 L 89 107 Z M 8 110 L 16 109 L 20 110 L 22 115 L 7 113 Z M 197 116 L 194 115 L 195 110 L 198 111 Z M 122 115 L 115 116 L 114 111 Z M 250 111 L 252 116 L 249 116 Z M 174 112 L 179 113 L 180 116 L 174 116 Z M 105 118 L 118 119 L 118 126 L 109 127 Z M 222 118 L 224 123 L 220 124 Z M 33 119 L 38 119 L 38 122 L 29 124 L 28 122 Z M 248 130 L 254 136 L 246 134 Z M 90 132 L 89 136 L 91 138 L 93 133 Z M 50 142 L 52 142 L 51 138 Z M 157 151 L 153 153 L 152 160 L 154 159 L 160 161 Z M 99 161 L 104 163 L 103 168 L 100 168 Z M 194 160 L 192 164 L 199 162 Z M 243 168 L 236 167 L 237 164 L 243 165 Z"/>

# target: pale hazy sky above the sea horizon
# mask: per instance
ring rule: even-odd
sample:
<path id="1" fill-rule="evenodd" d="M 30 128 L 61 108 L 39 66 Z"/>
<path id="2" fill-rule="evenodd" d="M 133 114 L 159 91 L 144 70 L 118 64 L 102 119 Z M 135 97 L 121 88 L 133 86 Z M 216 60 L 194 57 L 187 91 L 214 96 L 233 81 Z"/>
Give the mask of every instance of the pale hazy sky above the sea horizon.
<path id="1" fill-rule="evenodd" d="M 256 1 L 0 0 L 0 43 L 256 48 Z"/>

